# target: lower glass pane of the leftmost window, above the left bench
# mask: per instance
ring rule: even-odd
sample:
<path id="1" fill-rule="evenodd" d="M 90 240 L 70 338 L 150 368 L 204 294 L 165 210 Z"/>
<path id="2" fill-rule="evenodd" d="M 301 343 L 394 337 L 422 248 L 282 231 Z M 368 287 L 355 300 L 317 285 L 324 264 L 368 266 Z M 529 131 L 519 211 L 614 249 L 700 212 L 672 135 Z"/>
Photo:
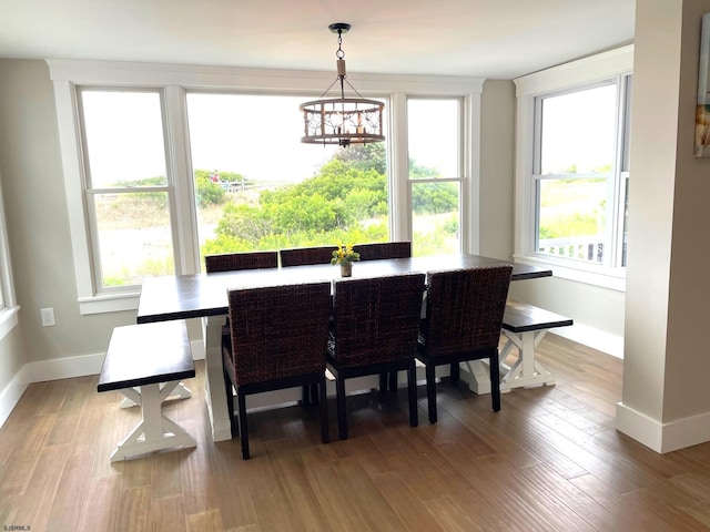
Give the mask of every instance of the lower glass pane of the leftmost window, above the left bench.
<path id="1" fill-rule="evenodd" d="M 104 287 L 140 285 L 143 277 L 174 274 L 166 193 L 97 194 L 93 198 Z"/>

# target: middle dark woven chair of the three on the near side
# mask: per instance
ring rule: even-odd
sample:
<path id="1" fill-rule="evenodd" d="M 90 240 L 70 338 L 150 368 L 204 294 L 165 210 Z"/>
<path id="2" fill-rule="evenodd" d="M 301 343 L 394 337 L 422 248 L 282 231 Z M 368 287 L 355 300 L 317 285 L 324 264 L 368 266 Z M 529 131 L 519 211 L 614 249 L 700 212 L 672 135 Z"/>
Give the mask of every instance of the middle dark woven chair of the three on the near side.
<path id="1" fill-rule="evenodd" d="M 345 379 L 407 371 L 409 424 L 418 424 L 415 355 L 424 274 L 335 283 L 327 367 L 335 376 L 337 426 L 347 439 Z"/>

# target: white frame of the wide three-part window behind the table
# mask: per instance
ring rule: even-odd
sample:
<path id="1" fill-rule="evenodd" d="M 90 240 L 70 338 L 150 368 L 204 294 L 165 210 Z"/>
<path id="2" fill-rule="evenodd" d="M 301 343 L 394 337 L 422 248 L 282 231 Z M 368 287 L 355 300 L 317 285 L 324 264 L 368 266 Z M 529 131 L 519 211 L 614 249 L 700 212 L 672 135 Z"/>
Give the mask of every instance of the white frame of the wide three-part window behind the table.
<path id="1" fill-rule="evenodd" d="M 74 273 L 81 314 L 111 313 L 138 308 L 140 289 L 97 293 L 84 196 L 84 163 L 78 119 L 77 86 L 146 88 L 164 93 L 168 144 L 168 174 L 174 186 L 173 246 L 175 273 L 200 270 L 196 208 L 186 123 L 187 90 L 235 91 L 245 93 L 313 94 L 322 93 L 334 74 L 311 71 L 276 71 L 222 66 L 123 63 L 103 61 L 48 60 L 54 84 L 59 136 L 67 204 L 69 207 Z M 484 80 L 458 76 L 405 76 L 351 74 L 353 84 L 364 95 L 389 101 L 390 235 L 393 239 L 412 237 L 410 204 L 407 194 L 408 167 L 406 144 L 407 95 L 459 96 L 465 104 L 465 168 L 468 176 L 462 198 L 462 242 L 464 252 L 478 250 L 477 216 L 479 190 L 480 95 Z M 297 112 L 297 111 L 294 111 Z M 315 146 L 314 146 L 315 147 Z M 475 164 L 474 164 L 475 162 Z M 464 191 L 463 191 L 464 192 Z M 172 214 L 172 213 L 171 213 Z"/>

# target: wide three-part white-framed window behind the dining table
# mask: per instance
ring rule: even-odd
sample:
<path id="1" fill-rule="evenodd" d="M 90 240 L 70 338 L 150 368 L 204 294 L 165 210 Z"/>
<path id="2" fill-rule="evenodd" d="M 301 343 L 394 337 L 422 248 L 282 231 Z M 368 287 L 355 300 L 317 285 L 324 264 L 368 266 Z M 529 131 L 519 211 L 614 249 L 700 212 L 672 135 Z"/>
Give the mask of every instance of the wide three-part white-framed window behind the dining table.
<path id="1" fill-rule="evenodd" d="M 410 239 L 409 181 L 428 205 L 448 198 L 438 211 L 420 211 L 442 219 L 446 249 L 476 252 L 477 225 L 458 218 L 476 206 L 477 165 L 462 146 L 478 143 L 463 130 L 478 132 L 481 80 L 363 75 L 367 96 L 387 102 L 385 125 L 397 126 L 385 143 L 342 150 L 300 142 L 298 104 L 318 98 L 328 73 L 48 64 L 82 314 L 134 309 L 142 278 L 200 272 L 209 253 L 335 245 L 338 236 Z M 442 152 L 436 175 L 413 180 L 410 94 L 442 108 L 447 144 L 456 144 Z M 416 105 L 413 120 L 422 123 Z M 410 136 L 412 156 L 430 166 L 437 154 Z M 341 192 L 332 194 L 335 182 Z M 276 197 L 283 202 L 273 209 Z"/>

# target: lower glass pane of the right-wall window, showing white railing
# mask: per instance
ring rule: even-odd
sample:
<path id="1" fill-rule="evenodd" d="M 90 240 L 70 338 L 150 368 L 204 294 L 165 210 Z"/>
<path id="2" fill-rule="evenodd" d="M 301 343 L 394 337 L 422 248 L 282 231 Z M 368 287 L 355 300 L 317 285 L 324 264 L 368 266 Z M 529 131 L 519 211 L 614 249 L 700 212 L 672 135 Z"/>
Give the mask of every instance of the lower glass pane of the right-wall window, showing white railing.
<path id="1" fill-rule="evenodd" d="M 601 263 L 607 238 L 607 180 L 539 182 L 538 252 Z"/>

